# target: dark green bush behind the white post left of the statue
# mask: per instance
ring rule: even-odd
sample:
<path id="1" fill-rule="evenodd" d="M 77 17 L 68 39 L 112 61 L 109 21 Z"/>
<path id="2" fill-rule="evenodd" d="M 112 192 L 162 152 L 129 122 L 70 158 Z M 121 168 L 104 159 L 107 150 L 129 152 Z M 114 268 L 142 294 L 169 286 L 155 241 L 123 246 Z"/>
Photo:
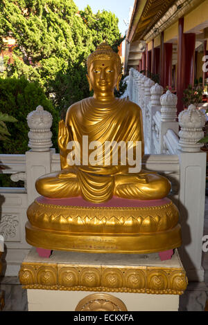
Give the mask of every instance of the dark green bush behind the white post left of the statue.
<path id="1" fill-rule="evenodd" d="M 0 151 L 4 154 L 24 154 L 28 150 L 28 125 L 26 117 L 28 113 L 42 105 L 46 111 L 53 115 L 53 145 L 57 143 L 58 135 L 58 111 L 47 99 L 44 91 L 37 82 L 28 82 L 26 78 L 8 77 L 0 79 L 0 121 L 18 123 L 10 124 L 9 141 L 0 142 Z M 8 115 L 13 118 L 9 118 Z M 1 125 L 1 122 L 0 122 Z M 8 133 L 5 133 L 8 135 Z"/>

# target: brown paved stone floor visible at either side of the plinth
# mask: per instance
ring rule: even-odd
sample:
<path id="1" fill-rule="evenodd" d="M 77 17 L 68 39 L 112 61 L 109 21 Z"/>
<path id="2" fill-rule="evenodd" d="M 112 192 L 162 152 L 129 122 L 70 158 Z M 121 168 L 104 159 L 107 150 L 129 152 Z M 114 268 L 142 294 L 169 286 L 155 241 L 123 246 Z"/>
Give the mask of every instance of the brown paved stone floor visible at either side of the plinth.
<path id="1" fill-rule="evenodd" d="M 205 228 L 208 235 L 208 196 L 205 203 Z M 191 282 L 184 295 L 180 296 L 180 311 L 203 311 L 208 299 L 208 252 L 203 254 L 205 282 Z M 0 277 L 0 288 L 5 292 L 3 311 L 26 311 L 27 293 L 21 288 L 17 277 Z"/>

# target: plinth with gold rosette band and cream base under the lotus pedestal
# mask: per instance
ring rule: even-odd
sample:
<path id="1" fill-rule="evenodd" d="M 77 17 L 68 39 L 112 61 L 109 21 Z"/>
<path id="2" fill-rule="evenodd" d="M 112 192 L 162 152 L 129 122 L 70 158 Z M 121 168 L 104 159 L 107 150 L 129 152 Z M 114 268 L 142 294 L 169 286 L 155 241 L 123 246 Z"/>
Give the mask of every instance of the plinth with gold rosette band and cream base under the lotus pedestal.
<path id="1" fill-rule="evenodd" d="M 61 251 L 46 259 L 33 248 L 21 265 L 19 280 L 28 289 L 28 310 L 177 310 L 179 295 L 187 288 L 177 250 L 172 259 L 160 261 L 157 253 Z M 93 297 L 88 299 L 89 294 Z M 111 302 L 103 307 L 102 301 Z"/>

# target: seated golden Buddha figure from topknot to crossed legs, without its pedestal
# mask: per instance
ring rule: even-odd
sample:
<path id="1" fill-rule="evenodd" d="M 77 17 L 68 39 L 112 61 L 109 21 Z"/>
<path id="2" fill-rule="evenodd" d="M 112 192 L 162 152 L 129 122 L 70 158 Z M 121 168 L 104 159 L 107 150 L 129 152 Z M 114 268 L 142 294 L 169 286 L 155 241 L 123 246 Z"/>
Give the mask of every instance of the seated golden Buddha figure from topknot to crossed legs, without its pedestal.
<path id="1" fill-rule="evenodd" d="M 94 96 L 71 105 L 65 123 L 60 121 L 58 146 L 62 171 L 39 178 L 37 192 L 47 198 L 82 196 L 93 203 L 109 201 L 112 196 L 137 200 L 164 198 L 171 189 L 169 181 L 150 171 L 129 173 L 130 166 L 128 163 L 122 165 L 121 154 L 117 165 L 106 165 L 102 154 L 97 157 L 96 165 L 83 165 L 82 154 L 80 165 L 67 163 L 67 144 L 71 140 L 78 142 L 83 153 L 85 136 L 89 142 L 101 142 L 102 148 L 106 142 L 125 142 L 126 145 L 132 142 L 135 147 L 140 141 L 141 156 L 144 155 L 141 109 L 129 100 L 114 97 L 114 89 L 119 89 L 121 81 L 119 55 L 103 43 L 89 55 L 87 70 L 89 88 L 94 90 Z M 113 146 L 107 157 L 111 162 L 112 153 Z"/>

